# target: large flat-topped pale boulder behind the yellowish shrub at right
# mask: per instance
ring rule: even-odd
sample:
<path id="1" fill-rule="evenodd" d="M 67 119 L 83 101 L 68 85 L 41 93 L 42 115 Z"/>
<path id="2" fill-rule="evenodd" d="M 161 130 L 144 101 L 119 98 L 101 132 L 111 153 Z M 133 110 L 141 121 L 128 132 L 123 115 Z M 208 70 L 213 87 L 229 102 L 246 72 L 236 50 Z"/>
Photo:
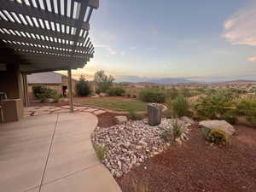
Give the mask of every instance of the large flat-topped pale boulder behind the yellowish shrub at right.
<path id="1" fill-rule="evenodd" d="M 229 136 L 233 135 L 236 130 L 225 120 L 203 120 L 199 123 L 203 129 L 220 129 Z"/>

